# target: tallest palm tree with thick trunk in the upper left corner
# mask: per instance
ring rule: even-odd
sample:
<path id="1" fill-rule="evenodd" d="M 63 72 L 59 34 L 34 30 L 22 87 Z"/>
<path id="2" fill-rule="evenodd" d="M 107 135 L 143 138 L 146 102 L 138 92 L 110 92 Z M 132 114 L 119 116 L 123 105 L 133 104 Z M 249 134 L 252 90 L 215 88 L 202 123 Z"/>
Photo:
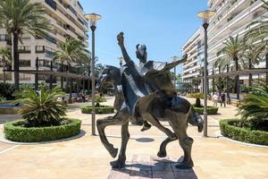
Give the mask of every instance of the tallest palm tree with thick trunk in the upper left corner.
<path id="1" fill-rule="evenodd" d="M 15 89 L 20 88 L 20 66 L 18 44 L 21 35 L 29 33 L 34 37 L 46 36 L 50 29 L 40 3 L 30 3 L 29 0 L 4 0 L 0 1 L 0 26 L 8 34 L 13 34 L 13 68 Z"/>

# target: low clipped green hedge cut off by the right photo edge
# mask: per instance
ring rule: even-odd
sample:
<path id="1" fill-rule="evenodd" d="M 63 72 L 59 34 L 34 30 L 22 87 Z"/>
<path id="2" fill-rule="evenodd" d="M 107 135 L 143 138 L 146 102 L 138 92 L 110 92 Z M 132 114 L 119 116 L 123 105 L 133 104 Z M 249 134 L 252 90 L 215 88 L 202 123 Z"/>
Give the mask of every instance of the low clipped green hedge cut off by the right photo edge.
<path id="1" fill-rule="evenodd" d="M 253 131 L 247 128 L 231 125 L 240 119 L 225 119 L 220 121 L 222 135 L 236 141 L 255 143 L 268 146 L 268 132 Z"/>

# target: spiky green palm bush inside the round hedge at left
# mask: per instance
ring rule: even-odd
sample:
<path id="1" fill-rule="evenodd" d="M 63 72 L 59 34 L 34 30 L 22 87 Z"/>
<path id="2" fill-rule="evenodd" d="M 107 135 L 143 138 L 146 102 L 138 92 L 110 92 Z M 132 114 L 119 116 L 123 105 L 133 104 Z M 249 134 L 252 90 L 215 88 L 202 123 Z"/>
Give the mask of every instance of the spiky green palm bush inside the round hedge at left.
<path id="1" fill-rule="evenodd" d="M 20 93 L 21 99 L 18 99 L 23 105 L 19 114 L 28 127 L 59 125 L 65 115 L 66 105 L 57 99 L 64 95 L 60 88 L 48 90 L 47 86 L 42 86 L 39 92 L 26 88 Z"/>

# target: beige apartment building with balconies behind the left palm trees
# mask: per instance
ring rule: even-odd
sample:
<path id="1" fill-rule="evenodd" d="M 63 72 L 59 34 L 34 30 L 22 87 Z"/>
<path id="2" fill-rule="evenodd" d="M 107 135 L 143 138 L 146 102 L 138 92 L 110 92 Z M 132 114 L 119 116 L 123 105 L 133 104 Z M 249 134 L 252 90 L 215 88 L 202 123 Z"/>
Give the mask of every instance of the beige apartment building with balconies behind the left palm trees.
<path id="1" fill-rule="evenodd" d="M 52 63 L 57 44 L 71 36 L 79 39 L 88 47 L 88 21 L 84 18 L 83 7 L 78 0 L 31 0 L 41 3 L 46 10 L 46 18 L 51 22 L 52 30 L 45 38 L 35 38 L 24 34 L 19 43 L 20 69 L 35 70 L 38 57 L 39 70 L 59 70 L 59 65 Z M 0 46 L 12 48 L 12 37 L 8 37 L 4 29 L 0 30 Z M 13 49 L 12 49 L 13 50 Z M 66 66 L 67 67 L 67 66 Z M 0 80 L 3 78 L 0 67 Z M 48 81 L 49 77 L 39 75 L 40 81 Z M 13 72 L 7 72 L 7 81 L 13 82 Z M 20 73 L 20 82 L 32 84 L 35 75 Z M 59 81 L 58 81 L 59 82 Z M 56 79 L 54 79 L 54 84 Z"/>

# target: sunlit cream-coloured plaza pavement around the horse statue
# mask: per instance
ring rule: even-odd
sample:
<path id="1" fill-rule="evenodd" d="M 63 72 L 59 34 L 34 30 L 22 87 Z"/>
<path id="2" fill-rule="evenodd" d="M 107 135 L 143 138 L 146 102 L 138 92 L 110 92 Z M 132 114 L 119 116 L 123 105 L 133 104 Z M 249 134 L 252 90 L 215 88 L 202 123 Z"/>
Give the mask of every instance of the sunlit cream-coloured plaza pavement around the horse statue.
<path id="1" fill-rule="evenodd" d="M 194 99 L 189 99 L 194 102 Z M 106 104 L 113 105 L 113 98 Z M 81 104 L 72 104 L 68 116 L 82 120 L 85 135 L 71 141 L 47 144 L 21 145 L 0 141 L 0 178 L 1 179 L 102 179 L 111 172 L 109 162 L 113 160 L 98 136 L 91 135 L 90 115 L 80 113 Z M 192 158 L 195 166 L 192 176 L 197 178 L 268 178 L 268 149 L 247 146 L 216 137 L 219 131 L 218 121 L 233 117 L 236 108 L 220 107 L 221 115 L 209 115 L 208 138 L 197 132 L 197 127 L 189 126 L 188 135 L 195 141 Z M 96 115 L 102 118 L 107 115 Z M 0 123 L 20 118 L 18 115 L 0 115 Z M 127 149 L 127 161 L 134 156 L 155 158 L 160 143 L 165 139 L 163 132 L 152 127 L 140 132 L 140 126 L 130 124 L 130 141 Z M 3 124 L 0 125 L 3 131 Z M 108 140 L 120 147 L 120 126 L 107 127 Z M 183 154 L 179 142 L 174 141 L 167 147 L 168 157 L 177 160 Z M 159 172 L 158 172 L 159 173 Z M 161 172 L 159 174 L 162 174 Z M 140 178 L 133 173 L 130 178 Z M 172 179 L 173 176 L 168 177 Z M 129 178 L 129 176 L 128 176 Z M 164 178 L 157 175 L 155 178 Z M 166 178 L 166 177 L 165 177 Z M 183 178 L 183 177 L 181 177 Z M 192 177 L 188 177 L 192 178 Z"/>

